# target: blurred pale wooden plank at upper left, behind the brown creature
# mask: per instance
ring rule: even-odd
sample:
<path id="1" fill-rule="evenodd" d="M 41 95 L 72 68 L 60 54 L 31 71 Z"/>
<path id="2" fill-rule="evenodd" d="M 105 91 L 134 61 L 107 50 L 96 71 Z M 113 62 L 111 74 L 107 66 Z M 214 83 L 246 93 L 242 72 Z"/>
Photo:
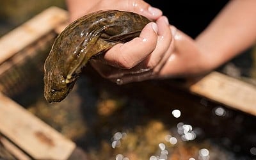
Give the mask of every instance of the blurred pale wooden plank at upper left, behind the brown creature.
<path id="1" fill-rule="evenodd" d="M 52 6 L 0 38 L 0 64 L 68 19 L 67 11 Z"/>

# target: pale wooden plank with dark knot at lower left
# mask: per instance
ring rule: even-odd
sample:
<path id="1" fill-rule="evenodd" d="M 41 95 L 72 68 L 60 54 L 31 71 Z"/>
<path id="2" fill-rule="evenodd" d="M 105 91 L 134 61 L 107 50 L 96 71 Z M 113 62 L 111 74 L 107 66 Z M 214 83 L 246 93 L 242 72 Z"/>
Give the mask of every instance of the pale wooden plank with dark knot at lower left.
<path id="1" fill-rule="evenodd" d="M 35 159 L 68 159 L 75 143 L 0 93 L 0 132 Z"/>

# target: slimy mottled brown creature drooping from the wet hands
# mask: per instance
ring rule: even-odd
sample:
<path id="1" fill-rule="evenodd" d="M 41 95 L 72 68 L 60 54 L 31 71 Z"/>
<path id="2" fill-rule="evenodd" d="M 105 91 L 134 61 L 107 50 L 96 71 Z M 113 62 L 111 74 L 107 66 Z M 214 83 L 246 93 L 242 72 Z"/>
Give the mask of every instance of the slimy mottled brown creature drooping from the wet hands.
<path id="1" fill-rule="evenodd" d="M 54 41 L 45 60 L 47 102 L 65 99 L 90 58 L 139 36 L 148 22 L 136 13 L 106 10 L 90 13 L 68 25 Z"/>

